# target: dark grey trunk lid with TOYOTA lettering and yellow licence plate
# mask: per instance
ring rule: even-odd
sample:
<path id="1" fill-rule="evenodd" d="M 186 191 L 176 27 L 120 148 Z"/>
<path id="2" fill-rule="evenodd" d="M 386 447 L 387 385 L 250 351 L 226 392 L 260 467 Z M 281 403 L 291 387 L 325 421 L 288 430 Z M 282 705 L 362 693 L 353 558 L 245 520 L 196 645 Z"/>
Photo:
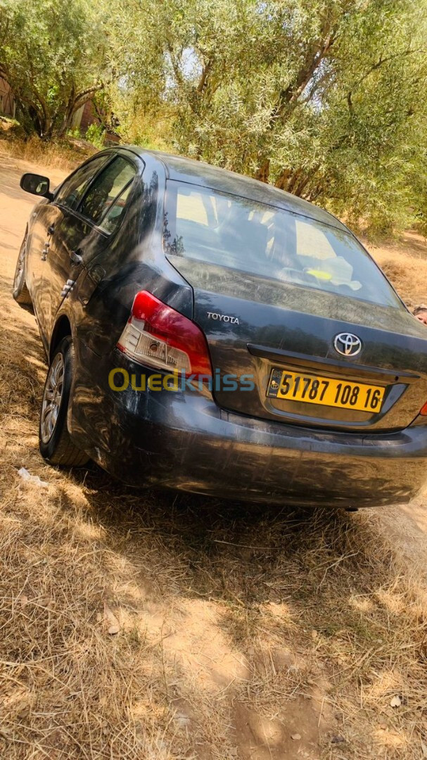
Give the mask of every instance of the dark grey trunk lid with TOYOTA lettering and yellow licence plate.
<path id="1" fill-rule="evenodd" d="M 401 429 L 425 403 L 427 334 L 403 306 L 377 306 L 217 264 L 168 258 L 194 290 L 194 320 L 207 337 L 213 396 L 224 410 L 360 432 Z M 342 356 L 334 347 L 341 333 L 361 340 L 356 356 Z M 330 403 L 275 394 L 283 373 L 290 373 L 293 387 L 298 375 L 301 382 L 330 381 Z M 361 397 L 368 388 L 381 389 L 381 408 L 337 406 L 339 383 L 341 390 L 357 385 Z"/>

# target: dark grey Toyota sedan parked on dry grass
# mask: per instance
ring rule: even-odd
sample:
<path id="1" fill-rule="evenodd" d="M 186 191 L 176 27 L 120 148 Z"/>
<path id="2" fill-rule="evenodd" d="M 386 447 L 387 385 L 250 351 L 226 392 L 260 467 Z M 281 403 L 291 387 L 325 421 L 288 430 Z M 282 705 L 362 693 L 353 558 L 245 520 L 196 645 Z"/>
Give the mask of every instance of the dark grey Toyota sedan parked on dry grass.
<path id="1" fill-rule="evenodd" d="M 114 147 L 42 197 L 17 261 L 49 371 L 40 451 L 131 486 L 333 507 L 427 475 L 427 331 L 340 221 Z"/>

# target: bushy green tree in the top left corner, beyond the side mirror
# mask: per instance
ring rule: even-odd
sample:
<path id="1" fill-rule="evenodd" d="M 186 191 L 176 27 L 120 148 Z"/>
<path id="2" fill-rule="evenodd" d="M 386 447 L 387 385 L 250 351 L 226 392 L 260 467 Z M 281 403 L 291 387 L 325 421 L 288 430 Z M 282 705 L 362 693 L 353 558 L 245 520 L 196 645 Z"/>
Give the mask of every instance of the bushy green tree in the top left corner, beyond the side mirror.
<path id="1" fill-rule="evenodd" d="M 103 0 L 0 0 L 0 76 L 30 134 L 64 135 L 108 76 Z"/>

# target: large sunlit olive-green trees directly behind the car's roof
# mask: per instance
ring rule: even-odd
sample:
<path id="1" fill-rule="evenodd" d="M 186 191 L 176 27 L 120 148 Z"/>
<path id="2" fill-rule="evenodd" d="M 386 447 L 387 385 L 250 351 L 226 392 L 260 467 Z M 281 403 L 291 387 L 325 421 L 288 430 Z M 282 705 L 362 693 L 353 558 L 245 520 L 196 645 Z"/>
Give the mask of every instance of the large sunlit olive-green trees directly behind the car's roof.
<path id="1" fill-rule="evenodd" d="M 274 182 L 353 225 L 385 233 L 422 222 L 426 8 L 128 0 L 112 23 L 117 39 L 125 28 L 125 134 L 132 115 L 163 114 L 176 150 Z"/>

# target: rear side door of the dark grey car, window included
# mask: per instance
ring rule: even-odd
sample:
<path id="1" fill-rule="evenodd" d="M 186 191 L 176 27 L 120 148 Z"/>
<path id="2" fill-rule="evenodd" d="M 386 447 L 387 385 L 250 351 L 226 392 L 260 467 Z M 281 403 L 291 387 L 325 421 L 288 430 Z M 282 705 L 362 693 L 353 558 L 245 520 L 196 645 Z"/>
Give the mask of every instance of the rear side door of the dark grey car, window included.
<path id="1" fill-rule="evenodd" d="M 62 220 L 58 227 L 55 225 L 55 244 L 49 249 L 43 277 L 48 341 L 63 299 L 87 263 L 108 246 L 110 236 L 119 226 L 137 172 L 138 166 L 131 158 L 112 154 L 73 204 L 65 204 L 59 198 Z"/>

